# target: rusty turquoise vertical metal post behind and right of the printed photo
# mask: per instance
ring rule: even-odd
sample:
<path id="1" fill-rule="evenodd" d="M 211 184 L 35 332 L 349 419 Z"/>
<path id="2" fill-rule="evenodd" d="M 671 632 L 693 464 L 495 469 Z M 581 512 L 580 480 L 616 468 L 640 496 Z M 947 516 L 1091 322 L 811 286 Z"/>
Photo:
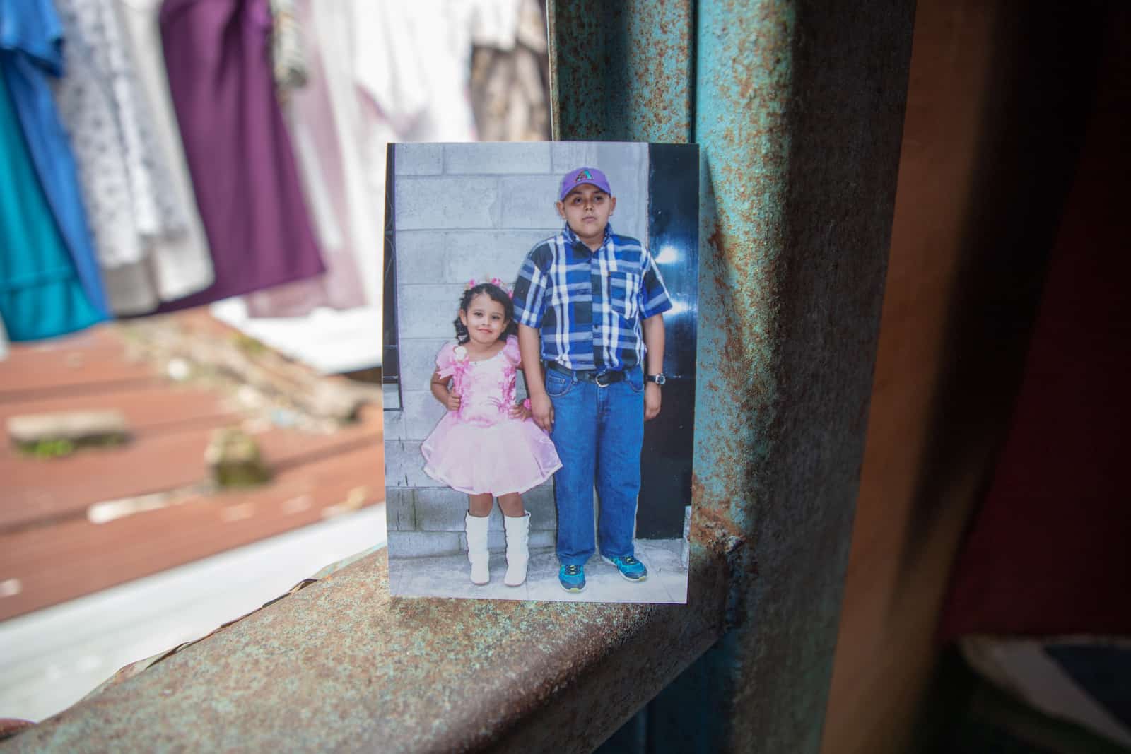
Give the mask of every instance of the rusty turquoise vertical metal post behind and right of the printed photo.
<path id="1" fill-rule="evenodd" d="M 555 29 L 558 79 L 569 83 L 555 92 L 555 138 L 679 138 L 664 93 L 682 94 L 687 71 L 688 138 L 702 156 L 692 537 L 708 562 L 728 564 L 731 631 L 630 728 L 650 730 L 656 752 L 815 752 L 863 458 L 914 3 L 700 2 L 681 9 L 693 49 L 679 50 L 667 41 L 683 36 L 663 3 L 642 10 L 667 24 L 636 37 L 621 36 L 627 27 L 608 23 L 601 3 L 569 3 L 570 14 L 579 8 L 598 23 L 570 27 L 585 35 Z M 611 51 L 605 60 L 627 70 L 578 62 L 579 44 Z M 651 50 L 664 60 L 648 59 Z M 640 94 L 622 96 L 621 83 L 644 71 Z M 670 722 L 688 717 L 697 725 Z"/>

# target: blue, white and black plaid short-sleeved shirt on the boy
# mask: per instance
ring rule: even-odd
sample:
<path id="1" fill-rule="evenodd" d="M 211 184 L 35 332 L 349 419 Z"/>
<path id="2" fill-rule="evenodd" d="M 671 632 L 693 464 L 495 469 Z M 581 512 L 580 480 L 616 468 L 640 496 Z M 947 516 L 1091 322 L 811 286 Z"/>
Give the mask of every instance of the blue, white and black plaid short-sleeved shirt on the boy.
<path id="1" fill-rule="evenodd" d="M 672 307 L 656 260 L 605 227 L 590 251 L 566 225 L 535 244 L 515 283 L 515 319 L 542 333 L 542 358 L 597 372 L 644 363 L 640 320 Z"/>

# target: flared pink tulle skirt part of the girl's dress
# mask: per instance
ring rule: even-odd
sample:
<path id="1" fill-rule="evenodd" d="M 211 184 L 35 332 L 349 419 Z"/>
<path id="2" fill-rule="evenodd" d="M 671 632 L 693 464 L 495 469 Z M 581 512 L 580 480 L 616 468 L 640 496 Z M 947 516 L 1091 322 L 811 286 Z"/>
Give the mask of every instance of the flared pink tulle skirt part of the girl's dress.
<path id="1" fill-rule="evenodd" d="M 562 467 L 550 435 L 533 419 L 476 426 L 449 413 L 421 452 L 425 474 L 469 495 L 523 493 Z"/>

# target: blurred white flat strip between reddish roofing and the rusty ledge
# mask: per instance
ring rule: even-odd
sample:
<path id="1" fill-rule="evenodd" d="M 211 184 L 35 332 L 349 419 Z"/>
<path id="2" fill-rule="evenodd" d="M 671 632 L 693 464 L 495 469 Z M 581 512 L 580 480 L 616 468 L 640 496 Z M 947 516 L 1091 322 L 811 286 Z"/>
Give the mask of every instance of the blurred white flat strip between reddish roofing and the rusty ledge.
<path id="1" fill-rule="evenodd" d="M 0 718 L 36 722 L 121 667 L 199 639 L 386 543 L 385 503 L 0 623 Z"/>

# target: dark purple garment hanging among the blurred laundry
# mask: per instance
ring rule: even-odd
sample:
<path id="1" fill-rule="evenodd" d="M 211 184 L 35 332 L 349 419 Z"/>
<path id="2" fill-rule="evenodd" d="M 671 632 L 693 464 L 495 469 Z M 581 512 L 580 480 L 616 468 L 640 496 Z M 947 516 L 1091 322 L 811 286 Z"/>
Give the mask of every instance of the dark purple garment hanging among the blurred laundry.
<path id="1" fill-rule="evenodd" d="M 165 0 L 161 35 L 216 280 L 159 312 L 325 271 L 275 99 L 269 0 Z"/>

